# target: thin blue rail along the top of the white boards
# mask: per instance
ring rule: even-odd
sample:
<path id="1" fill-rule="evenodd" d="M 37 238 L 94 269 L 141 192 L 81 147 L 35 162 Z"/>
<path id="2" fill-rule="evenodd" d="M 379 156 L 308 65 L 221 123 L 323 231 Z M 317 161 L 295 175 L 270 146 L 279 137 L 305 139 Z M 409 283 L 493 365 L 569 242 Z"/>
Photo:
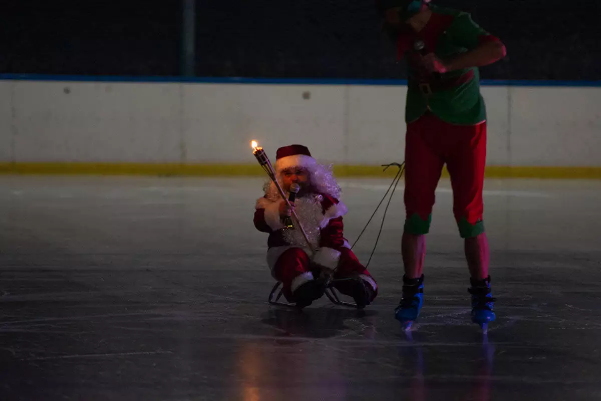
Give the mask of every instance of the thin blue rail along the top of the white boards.
<path id="1" fill-rule="evenodd" d="M 181 76 L 120 76 L 120 75 L 43 75 L 0 74 L 0 81 L 61 81 L 61 82 L 148 82 L 189 84 L 279 84 L 279 85 L 406 85 L 406 79 L 345 79 L 345 78 L 236 78 Z M 536 81 L 482 79 L 484 86 L 513 87 L 601 87 L 601 81 Z"/>

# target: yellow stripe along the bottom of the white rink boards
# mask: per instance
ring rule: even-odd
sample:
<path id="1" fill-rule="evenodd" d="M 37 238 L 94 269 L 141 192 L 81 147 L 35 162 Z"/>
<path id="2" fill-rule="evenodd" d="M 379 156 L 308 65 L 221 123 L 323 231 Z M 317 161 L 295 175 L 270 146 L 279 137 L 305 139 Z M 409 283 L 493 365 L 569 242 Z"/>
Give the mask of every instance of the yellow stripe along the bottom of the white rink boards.
<path id="1" fill-rule="evenodd" d="M 397 167 L 383 172 L 373 165 L 335 165 L 337 177 L 393 177 Z M 150 164 L 150 163 L 0 163 L 0 174 L 100 176 L 246 176 L 263 177 L 258 164 Z M 446 170 L 443 177 L 448 177 Z M 601 167 L 486 167 L 487 178 L 601 179 Z"/>

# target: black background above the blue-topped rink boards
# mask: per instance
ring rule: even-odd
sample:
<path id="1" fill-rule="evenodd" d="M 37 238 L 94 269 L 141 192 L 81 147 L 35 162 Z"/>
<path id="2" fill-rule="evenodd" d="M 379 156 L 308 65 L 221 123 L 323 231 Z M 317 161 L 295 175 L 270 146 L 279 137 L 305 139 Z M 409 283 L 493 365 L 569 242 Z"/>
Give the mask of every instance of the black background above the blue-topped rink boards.
<path id="1" fill-rule="evenodd" d="M 601 79 L 601 1 L 433 0 L 501 38 L 487 79 Z M 182 2 L 2 2 L 0 73 L 177 76 Z M 198 0 L 197 76 L 404 78 L 372 0 Z"/>

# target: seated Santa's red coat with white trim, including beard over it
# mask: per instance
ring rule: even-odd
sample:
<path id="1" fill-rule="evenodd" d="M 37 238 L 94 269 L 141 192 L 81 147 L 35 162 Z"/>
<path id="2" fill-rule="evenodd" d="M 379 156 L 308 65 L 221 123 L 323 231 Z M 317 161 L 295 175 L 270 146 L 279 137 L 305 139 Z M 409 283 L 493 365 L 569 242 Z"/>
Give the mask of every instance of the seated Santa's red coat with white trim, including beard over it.
<path id="1" fill-rule="evenodd" d="M 269 233 L 267 239 L 267 265 L 273 271 L 278 257 L 290 248 L 303 248 L 311 255 L 310 248 L 300 230 L 284 230 L 279 217 L 279 205 L 283 199 L 259 198 L 255 206 L 254 224 L 257 230 Z M 302 223 L 314 249 L 313 262 L 335 269 L 340 261 L 340 249 L 350 248 L 344 238 L 342 216 L 348 209 L 344 203 L 326 194 L 311 193 L 294 202 L 294 210 Z"/>

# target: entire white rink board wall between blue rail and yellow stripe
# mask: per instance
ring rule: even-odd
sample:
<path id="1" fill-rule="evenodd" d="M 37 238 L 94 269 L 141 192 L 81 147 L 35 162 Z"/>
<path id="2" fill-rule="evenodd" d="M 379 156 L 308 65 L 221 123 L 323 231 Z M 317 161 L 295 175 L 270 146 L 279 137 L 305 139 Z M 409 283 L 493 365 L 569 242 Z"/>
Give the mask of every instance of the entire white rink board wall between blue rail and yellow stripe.
<path id="1" fill-rule="evenodd" d="M 402 161 L 404 86 L 0 81 L 0 161 Z M 488 165 L 601 166 L 601 88 L 483 87 Z"/>

